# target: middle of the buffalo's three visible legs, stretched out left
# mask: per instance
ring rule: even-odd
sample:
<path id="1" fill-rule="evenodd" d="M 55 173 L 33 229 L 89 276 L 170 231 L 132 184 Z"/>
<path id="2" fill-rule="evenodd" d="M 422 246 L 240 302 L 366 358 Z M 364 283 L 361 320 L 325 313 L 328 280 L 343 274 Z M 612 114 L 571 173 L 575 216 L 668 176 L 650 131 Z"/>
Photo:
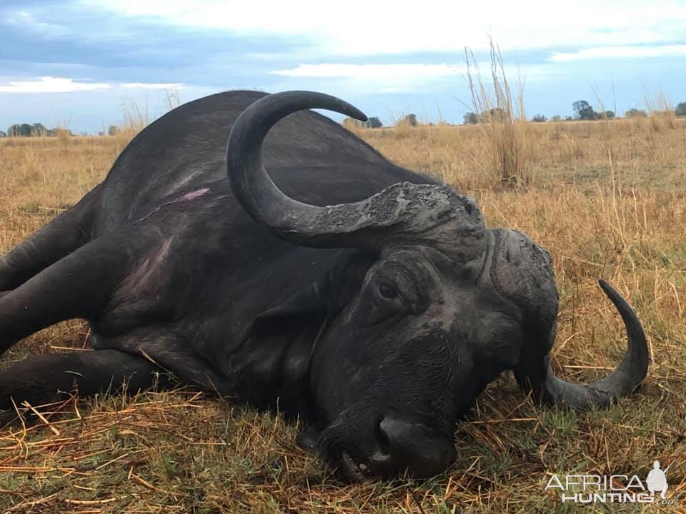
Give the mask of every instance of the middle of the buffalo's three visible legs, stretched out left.
<path id="1" fill-rule="evenodd" d="M 96 320 L 128 268 L 126 241 L 103 236 L 0 297 L 0 354 L 59 321 Z"/>

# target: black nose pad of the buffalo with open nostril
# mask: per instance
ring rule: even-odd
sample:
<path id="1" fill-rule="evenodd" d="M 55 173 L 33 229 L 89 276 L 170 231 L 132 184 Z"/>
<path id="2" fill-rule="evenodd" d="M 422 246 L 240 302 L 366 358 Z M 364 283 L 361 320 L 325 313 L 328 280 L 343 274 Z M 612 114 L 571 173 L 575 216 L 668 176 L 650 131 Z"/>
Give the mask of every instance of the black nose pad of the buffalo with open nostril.
<path id="1" fill-rule="evenodd" d="M 439 435 L 426 425 L 384 418 L 377 428 L 379 452 L 370 463 L 384 475 L 408 470 L 415 478 L 442 473 L 455 459 L 452 438 Z"/>

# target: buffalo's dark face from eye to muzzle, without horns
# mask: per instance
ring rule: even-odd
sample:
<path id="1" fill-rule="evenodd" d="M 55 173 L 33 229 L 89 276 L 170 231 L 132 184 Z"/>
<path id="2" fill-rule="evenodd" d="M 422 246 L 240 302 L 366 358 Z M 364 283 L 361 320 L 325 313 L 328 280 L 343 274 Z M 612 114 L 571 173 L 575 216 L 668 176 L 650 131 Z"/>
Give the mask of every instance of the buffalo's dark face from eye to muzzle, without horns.
<path id="1" fill-rule="evenodd" d="M 412 465 L 431 476 L 452 462 L 457 416 L 515 366 L 522 343 L 517 313 L 474 271 L 460 277 L 422 246 L 394 248 L 369 269 L 312 361 L 319 445 L 332 457 L 379 475 Z M 389 420 L 411 428 L 384 435 Z"/>

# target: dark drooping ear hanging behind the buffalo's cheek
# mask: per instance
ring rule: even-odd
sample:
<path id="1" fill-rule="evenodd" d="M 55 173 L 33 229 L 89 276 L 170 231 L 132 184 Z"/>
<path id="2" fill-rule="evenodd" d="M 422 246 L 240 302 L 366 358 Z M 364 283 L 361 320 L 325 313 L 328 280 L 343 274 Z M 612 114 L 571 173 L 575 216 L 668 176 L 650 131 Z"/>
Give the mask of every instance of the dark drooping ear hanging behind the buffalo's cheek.
<path id="1" fill-rule="evenodd" d="M 345 250 L 324 276 L 300 293 L 264 311 L 234 356 L 237 393 L 262 408 L 284 413 L 307 410 L 309 361 L 320 333 L 352 299 L 377 256 Z"/>

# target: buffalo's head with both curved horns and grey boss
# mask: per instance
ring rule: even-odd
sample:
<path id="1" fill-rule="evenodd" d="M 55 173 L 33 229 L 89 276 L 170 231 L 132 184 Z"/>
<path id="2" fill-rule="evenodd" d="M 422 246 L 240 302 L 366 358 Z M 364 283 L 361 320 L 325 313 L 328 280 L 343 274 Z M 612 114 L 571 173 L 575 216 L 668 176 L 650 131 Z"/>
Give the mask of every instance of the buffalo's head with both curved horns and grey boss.
<path id="1" fill-rule="evenodd" d="M 625 358 L 590 385 L 555 377 L 549 254 L 518 231 L 487 230 L 476 203 L 450 186 L 397 183 L 334 206 L 285 196 L 262 166 L 261 146 L 277 121 L 302 109 L 365 119 L 332 96 L 265 96 L 234 124 L 227 168 L 244 209 L 280 237 L 363 256 L 329 281 L 339 305 L 307 359 L 312 441 L 345 477 L 440 473 L 455 456 L 454 423 L 505 370 L 536 398 L 575 408 L 610 403 L 642 381 L 644 333 L 605 282 L 627 328 Z"/>

